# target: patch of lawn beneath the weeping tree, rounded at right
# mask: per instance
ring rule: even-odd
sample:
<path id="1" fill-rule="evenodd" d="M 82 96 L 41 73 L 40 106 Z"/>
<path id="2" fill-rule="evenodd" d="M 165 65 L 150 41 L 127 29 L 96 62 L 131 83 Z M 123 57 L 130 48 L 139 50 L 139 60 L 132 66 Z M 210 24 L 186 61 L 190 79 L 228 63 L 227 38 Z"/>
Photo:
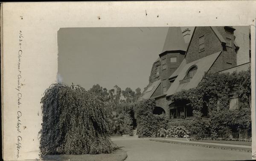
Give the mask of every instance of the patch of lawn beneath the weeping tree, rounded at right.
<path id="1" fill-rule="evenodd" d="M 109 154 L 83 155 L 45 155 L 43 161 L 124 161 L 127 158 L 125 150 L 116 150 Z"/>

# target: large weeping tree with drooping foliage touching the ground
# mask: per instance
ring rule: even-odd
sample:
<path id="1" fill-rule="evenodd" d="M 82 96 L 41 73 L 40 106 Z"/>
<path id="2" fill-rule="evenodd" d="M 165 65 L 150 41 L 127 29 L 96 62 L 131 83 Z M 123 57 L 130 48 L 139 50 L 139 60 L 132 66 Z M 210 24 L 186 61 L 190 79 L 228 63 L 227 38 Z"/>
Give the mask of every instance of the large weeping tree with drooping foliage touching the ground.
<path id="1" fill-rule="evenodd" d="M 41 155 L 110 153 L 105 105 L 78 85 L 52 84 L 41 99 Z"/>

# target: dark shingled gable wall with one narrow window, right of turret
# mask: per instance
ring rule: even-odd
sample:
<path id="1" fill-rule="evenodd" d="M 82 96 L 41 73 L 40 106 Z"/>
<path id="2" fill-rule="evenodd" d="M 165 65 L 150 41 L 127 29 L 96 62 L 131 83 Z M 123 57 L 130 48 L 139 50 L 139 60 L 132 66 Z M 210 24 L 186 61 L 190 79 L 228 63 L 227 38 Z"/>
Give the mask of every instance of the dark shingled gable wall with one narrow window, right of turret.
<path id="1" fill-rule="evenodd" d="M 199 37 L 204 35 L 204 51 L 199 52 Z M 189 49 L 186 53 L 186 63 L 198 60 L 215 52 L 221 51 L 220 40 L 212 31 L 211 27 L 196 27 Z"/>

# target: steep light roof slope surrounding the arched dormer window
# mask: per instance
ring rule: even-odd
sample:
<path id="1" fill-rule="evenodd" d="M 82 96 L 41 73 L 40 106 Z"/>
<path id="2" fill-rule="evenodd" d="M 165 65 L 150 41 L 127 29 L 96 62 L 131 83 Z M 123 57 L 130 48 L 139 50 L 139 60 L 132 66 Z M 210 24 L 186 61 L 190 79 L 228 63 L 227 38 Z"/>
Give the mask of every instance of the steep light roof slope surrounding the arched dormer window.
<path id="1" fill-rule="evenodd" d="M 209 69 L 211 68 L 212 64 L 215 62 L 215 60 L 218 58 L 218 56 L 221 54 L 220 52 L 216 52 L 214 54 L 208 55 L 206 57 L 203 57 L 201 59 L 192 61 L 191 63 L 188 64 L 183 64 L 182 67 L 179 67 L 176 71 L 175 75 L 172 75 L 172 77 L 176 77 L 175 81 L 172 83 L 172 85 L 169 87 L 169 89 L 166 92 L 166 96 L 170 96 L 175 94 L 176 92 L 179 92 L 181 90 L 188 90 L 191 88 L 194 88 L 198 86 L 198 83 L 202 80 L 204 73 L 208 72 Z M 184 61 L 184 60 L 183 60 Z M 186 73 L 188 69 L 191 66 L 197 66 L 197 71 L 195 72 L 194 77 L 187 83 L 180 84 L 180 80 L 183 80 L 184 77 L 186 76 Z"/>

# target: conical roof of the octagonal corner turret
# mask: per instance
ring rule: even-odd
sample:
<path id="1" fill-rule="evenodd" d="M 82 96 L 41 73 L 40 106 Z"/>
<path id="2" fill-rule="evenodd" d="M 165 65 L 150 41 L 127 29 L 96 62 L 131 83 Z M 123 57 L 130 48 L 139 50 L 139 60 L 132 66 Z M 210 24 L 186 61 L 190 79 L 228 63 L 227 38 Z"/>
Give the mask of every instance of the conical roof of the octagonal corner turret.
<path id="1" fill-rule="evenodd" d="M 163 52 L 182 50 L 186 51 L 187 46 L 182 35 L 180 27 L 169 27 L 166 40 L 163 46 Z"/>

